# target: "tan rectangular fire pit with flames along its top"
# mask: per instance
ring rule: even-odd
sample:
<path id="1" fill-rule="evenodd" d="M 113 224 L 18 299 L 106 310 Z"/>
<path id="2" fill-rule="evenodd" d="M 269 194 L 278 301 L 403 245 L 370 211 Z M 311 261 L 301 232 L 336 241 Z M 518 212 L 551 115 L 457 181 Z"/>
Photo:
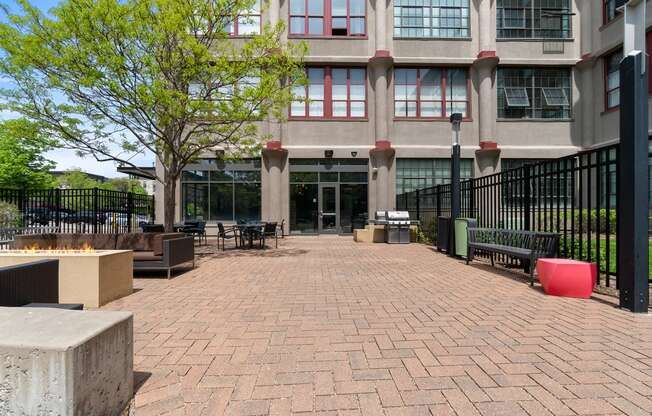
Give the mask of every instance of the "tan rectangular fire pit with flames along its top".
<path id="1" fill-rule="evenodd" d="M 133 292 L 133 253 L 130 250 L 40 248 L 0 250 L 0 267 L 36 260 L 59 260 L 59 302 L 97 308 Z"/>

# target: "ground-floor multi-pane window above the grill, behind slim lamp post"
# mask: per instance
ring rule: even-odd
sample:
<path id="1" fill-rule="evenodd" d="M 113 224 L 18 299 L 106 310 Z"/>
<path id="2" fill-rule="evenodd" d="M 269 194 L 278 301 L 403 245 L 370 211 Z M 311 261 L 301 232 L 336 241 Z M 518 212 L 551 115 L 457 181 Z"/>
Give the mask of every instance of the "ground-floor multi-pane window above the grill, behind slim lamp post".
<path id="1" fill-rule="evenodd" d="M 460 161 L 460 178 L 473 178 L 473 159 Z M 397 159 L 396 195 L 450 182 L 450 159 Z"/>

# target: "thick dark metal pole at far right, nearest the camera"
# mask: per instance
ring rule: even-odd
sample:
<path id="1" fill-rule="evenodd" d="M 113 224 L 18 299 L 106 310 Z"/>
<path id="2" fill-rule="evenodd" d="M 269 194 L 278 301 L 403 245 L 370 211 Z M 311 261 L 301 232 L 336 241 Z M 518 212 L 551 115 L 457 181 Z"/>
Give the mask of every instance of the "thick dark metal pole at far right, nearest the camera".
<path id="1" fill-rule="evenodd" d="M 625 5 L 620 63 L 618 275 L 620 306 L 647 313 L 648 291 L 648 81 L 645 1 Z"/>

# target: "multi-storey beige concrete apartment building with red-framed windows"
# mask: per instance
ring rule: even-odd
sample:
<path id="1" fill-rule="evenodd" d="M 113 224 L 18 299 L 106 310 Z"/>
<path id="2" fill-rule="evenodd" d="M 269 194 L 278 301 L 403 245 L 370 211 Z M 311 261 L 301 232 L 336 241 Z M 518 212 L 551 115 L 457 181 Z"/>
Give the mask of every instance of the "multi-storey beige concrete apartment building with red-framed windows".
<path id="1" fill-rule="evenodd" d="M 463 178 L 616 141 L 622 3 L 270 0 L 233 36 L 285 20 L 309 45 L 295 90 L 308 100 L 263 126 L 274 140 L 259 157 L 188 166 L 177 217 L 350 233 L 397 194 L 449 181 L 456 112 Z"/>

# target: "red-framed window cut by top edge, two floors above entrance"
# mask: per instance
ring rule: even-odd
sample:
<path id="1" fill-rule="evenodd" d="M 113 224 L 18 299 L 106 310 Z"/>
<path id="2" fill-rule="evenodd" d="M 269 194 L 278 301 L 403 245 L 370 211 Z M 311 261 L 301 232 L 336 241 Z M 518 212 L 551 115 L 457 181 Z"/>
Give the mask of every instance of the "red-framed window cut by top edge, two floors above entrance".
<path id="1" fill-rule="evenodd" d="M 290 35 L 364 36 L 365 0 L 290 0 Z"/>

